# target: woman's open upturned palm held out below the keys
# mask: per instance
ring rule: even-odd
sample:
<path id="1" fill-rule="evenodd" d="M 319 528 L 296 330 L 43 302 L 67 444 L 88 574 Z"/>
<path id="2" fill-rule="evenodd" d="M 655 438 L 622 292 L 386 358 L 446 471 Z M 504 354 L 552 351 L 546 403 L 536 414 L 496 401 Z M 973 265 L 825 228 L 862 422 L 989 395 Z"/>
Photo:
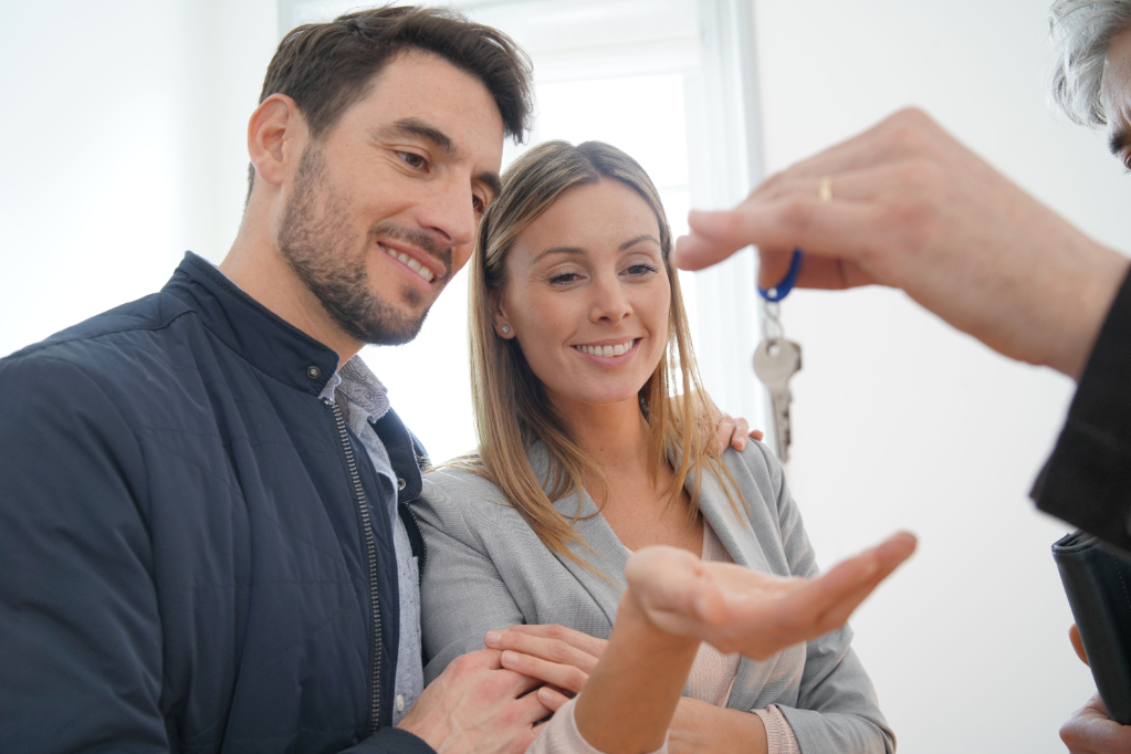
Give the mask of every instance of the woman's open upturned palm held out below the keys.
<path id="1" fill-rule="evenodd" d="M 766 659 L 841 626 L 915 544 L 913 535 L 897 534 L 811 581 L 645 547 L 624 569 L 625 595 L 663 631 Z"/>

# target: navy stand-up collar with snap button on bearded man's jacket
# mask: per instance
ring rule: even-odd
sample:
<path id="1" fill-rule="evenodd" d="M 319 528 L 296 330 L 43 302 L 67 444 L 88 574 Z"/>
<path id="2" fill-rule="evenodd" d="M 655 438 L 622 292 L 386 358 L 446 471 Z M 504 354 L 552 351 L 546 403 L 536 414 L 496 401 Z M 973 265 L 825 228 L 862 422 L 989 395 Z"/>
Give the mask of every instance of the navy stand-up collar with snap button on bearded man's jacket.
<path id="1" fill-rule="evenodd" d="M 248 363 L 296 390 L 318 396 L 338 355 L 271 313 L 191 251 L 162 289 L 185 302 L 205 328 Z"/>

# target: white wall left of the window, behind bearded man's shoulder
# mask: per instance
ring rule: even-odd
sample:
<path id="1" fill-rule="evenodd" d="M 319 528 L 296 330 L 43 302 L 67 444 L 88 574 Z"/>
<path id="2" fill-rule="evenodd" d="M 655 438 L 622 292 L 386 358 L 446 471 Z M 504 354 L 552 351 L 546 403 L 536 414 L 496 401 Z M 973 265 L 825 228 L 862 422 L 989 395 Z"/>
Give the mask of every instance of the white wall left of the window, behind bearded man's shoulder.
<path id="1" fill-rule="evenodd" d="M 274 0 L 9 2 L 0 355 L 159 288 L 239 226 Z"/>

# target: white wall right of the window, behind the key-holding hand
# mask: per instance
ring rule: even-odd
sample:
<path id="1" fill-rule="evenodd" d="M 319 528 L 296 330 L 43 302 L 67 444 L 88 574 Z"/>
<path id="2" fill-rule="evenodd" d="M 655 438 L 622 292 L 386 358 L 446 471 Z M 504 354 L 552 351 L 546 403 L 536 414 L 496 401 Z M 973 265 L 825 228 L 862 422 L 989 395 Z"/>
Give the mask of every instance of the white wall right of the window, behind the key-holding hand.
<path id="1" fill-rule="evenodd" d="M 917 104 L 1131 249 L 1131 180 L 1045 106 L 1047 6 L 754 0 L 768 170 Z M 789 478 L 822 563 L 897 527 L 921 538 L 853 622 L 901 751 L 1063 752 L 1057 727 L 1094 686 L 1048 553 L 1069 527 L 1026 495 L 1072 384 L 892 291 L 797 292 L 783 319 L 804 346 Z"/>

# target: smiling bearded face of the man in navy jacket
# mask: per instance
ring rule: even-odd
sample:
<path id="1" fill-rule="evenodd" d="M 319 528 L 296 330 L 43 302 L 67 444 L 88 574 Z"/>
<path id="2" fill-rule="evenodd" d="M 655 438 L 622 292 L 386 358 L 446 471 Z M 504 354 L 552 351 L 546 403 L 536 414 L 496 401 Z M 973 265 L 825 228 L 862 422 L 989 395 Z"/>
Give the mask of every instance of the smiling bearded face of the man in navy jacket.
<path id="1" fill-rule="evenodd" d="M 305 146 L 279 249 L 347 336 L 380 345 L 416 337 L 470 257 L 498 193 L 502 139 L 499 109 L 477 78 L 409 51 Z"/>

